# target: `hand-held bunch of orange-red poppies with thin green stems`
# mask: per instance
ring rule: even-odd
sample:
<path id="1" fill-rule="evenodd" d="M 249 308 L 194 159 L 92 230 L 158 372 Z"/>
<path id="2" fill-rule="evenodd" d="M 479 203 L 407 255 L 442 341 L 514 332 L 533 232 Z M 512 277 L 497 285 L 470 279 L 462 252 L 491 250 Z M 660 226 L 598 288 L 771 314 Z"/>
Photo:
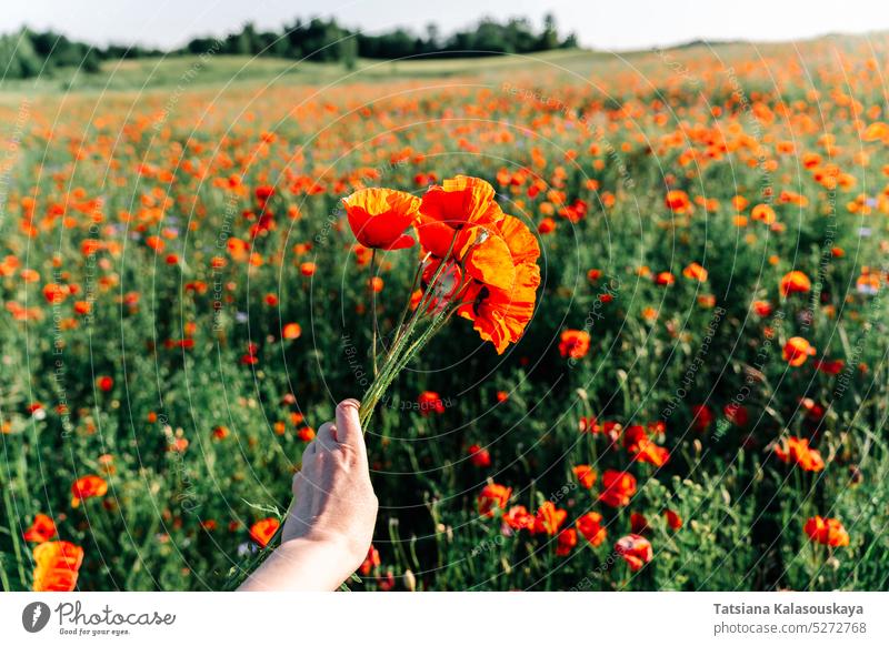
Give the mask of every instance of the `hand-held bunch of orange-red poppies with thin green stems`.
<path id="1" fill-rule="evenodd" d="M 521 337 L 540 285 L 540 248 L 523 222 L 503 213 L 493 186 L 478 178 L 457 175 L 422 198 L 362 189 L 343 205 L 358 242 L 372 250 L 371 271 L 378 250 L 414 245 L 411 230 L 420 243 L 413 284 L 384 353 L 378 353 L 372 312 L 374 378 L 359 413 L 366 427 L 399 372 L 455 314 L 471 321 L 498 353 Z"/>

